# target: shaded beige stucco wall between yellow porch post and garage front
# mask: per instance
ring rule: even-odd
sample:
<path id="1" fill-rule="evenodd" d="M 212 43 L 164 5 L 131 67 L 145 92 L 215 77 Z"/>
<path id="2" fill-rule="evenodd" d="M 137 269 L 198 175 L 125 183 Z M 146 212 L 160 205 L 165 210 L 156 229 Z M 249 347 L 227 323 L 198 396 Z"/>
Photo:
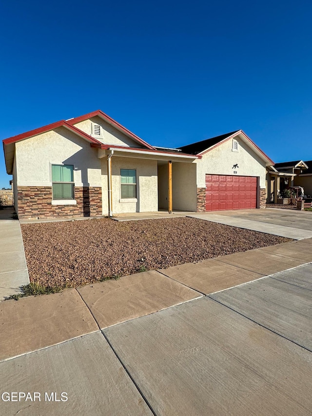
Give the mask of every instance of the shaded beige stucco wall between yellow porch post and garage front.
<path id="1" fill-rule="evenodd" d="M 172 164 L 173 210 L 196 211 L 196 164 Z"/>

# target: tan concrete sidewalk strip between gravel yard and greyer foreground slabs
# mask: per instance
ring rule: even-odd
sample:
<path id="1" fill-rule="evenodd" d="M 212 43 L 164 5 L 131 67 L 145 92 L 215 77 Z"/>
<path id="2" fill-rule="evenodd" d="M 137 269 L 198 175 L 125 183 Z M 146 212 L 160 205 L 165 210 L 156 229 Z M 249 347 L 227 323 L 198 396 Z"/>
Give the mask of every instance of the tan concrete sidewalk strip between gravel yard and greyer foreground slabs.
<path id="1" fill-rule="evenodd" d="M 312 238 L 3 301 L 0 361 L 310 262 Z"/>

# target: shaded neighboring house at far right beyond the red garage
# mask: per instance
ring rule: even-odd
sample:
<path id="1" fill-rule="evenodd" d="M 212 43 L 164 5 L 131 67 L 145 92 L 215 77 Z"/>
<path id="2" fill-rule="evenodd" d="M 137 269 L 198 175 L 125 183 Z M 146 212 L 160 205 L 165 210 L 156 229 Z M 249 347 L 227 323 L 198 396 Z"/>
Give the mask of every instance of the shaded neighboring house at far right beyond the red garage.
<path id="1" fill-rule="evenodd" d="M 277 203 L 278 195 L 289 186 L 301 186 L 312 196 L 312 160 L 275 163 L 267 168 L 267 203 Z"/>

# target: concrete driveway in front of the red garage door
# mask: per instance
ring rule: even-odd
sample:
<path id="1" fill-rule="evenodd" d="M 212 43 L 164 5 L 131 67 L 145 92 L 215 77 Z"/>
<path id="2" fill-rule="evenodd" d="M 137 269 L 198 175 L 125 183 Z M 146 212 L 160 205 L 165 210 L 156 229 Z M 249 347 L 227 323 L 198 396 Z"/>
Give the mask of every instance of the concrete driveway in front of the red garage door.
<path id="1" fill-rule="evenodd" d="M 189 214 L 189 217 L 260 231 L 275 236 L 312 237 L 312 212 L 283 209 L 244 209 Z"/>

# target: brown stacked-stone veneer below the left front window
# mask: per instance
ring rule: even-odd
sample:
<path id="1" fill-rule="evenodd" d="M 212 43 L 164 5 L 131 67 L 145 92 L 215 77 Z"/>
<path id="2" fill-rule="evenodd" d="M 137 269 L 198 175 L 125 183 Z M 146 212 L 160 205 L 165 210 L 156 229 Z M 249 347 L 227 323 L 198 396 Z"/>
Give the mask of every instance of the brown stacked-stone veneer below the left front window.
<path id="1" fill-rule="evenodd" d="M 77 205 L 52 205 L 52 187 L 18 186 L 19 218 L 98 217 L 102 215 L 102 189 L 75 186 Z"/>

